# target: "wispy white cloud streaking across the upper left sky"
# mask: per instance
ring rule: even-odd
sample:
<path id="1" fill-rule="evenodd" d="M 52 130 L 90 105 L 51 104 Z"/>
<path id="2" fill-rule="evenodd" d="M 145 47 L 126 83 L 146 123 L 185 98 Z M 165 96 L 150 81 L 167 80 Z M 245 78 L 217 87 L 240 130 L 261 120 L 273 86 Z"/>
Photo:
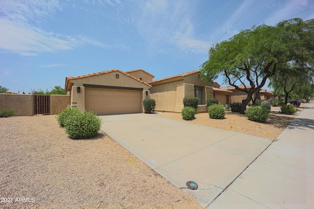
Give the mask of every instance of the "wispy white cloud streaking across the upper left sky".
<path id="1" fill-rule="evenodd" d="M 38 20 L 50 18 L 64 7 L 58 0 L 27 0 L 23 3 L 3 1 L 0 4 L 0 49 L 4 52 L 36 56 L 38 52 L 73 50 L 84 44 L 108 47 L 88 36 L 69 36 L 43 29 Z"/>

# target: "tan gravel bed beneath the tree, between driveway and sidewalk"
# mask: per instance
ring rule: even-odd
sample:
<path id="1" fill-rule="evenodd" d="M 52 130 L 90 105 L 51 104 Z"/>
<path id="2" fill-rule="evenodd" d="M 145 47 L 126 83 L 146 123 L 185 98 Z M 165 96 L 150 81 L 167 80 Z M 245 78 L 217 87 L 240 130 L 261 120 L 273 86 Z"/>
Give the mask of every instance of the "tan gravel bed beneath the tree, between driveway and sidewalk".
<path id="1" fill-rule="evenodd" d="M 306 104 L 301 104 L 298 110 L 302 111 L 302 107 L 304 106 L 306 106 Z M 280 110 L 280 107 L 271 108 L 272 111 Z M 159 115 L 159 117 L 209 126 L 216 129 L 245 133 L 272 140 L 276 139 L 287 128 L 287 126 L 291 123 L 291 121 L 293 121 L 296 116 L 297 114 L 285 115 L 281 113 L 271 112 L 270 117 L 265 123 L 258 123 L 250 121 L 244 114 L 231 112 L 230 109 L 227 110 L 224 119 L 211 119 L 209 118 L 209 114 L 207 112 L 197 113 L 195 115 L 195 119 L 190 121 L 183 120 L 181 113 L 167 112 L 166 114 Z"/>

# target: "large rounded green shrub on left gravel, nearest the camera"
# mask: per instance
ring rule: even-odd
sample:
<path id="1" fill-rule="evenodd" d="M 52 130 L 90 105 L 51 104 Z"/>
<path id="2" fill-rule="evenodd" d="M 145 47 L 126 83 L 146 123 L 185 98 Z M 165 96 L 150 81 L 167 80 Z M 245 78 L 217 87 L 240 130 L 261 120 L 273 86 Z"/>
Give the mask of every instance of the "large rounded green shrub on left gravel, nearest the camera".
<path id="1" fill-rule="evenodd" d="M 65 132 L 70 138 L 90 138 L 100 130 L 103 122 L 91 111 L 75 111 L 64 121 Z"/>

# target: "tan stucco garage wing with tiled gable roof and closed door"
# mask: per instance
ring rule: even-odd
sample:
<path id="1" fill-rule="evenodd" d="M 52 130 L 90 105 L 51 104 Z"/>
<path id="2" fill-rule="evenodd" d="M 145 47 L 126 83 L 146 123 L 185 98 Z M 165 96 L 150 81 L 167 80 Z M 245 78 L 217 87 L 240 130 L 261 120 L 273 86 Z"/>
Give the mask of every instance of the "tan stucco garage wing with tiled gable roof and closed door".
<path id="1" fill-rule="evenodd" d="M 138 72 L 137 72 L 138 71 Z M 138 74 L 142 80 L 132 76 Z M 154 78 L 137 69 L 130 74 L 118 69 L 65 78 L 65 90 L 71 95 L 71 106 L 90 109 L 99 115 L 143 112 L 143 100 L 149 95 Z"/>

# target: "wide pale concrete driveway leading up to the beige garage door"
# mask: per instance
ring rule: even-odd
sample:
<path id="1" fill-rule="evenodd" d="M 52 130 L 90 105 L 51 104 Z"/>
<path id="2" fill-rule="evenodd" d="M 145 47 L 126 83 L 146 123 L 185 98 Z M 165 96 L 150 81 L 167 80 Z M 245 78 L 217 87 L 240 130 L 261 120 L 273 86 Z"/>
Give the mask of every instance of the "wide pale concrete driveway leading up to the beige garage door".
<path id="1" fill-rule="evenodd" d="M 163 114 L 163 113 L 160 113 Z M 207 207 L 271 143 L 269 139 L 158 117 L 101 116 L 102 130 Z M 186 182 L 198 189 L 191 190 Z"/>

